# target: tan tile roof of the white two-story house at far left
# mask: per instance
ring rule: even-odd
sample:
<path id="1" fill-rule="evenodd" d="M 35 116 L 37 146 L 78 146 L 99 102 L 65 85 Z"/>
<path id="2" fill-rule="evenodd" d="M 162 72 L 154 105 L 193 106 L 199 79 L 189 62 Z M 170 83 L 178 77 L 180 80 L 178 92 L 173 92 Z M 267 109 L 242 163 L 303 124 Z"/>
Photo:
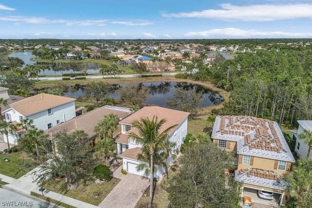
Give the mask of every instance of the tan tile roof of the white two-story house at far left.
<path id="1" fill-rule="evenodd" d="M 23 100 L 11 103 L 10 106 L 22 115 L 27 116 L 69 102 L 73 102 L 75 100 L 76 98 L 40 93 L 38 95 L 27 97 Z"/>

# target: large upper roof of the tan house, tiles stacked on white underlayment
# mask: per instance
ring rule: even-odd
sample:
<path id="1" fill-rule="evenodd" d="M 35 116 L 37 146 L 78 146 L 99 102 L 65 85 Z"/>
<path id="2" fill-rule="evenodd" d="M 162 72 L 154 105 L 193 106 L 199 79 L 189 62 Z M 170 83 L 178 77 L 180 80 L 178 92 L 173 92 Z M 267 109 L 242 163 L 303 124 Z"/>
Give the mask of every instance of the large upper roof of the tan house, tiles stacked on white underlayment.
<path id="1" fill-rule="evenodd" d="M 250 116 L 217 116 L 212 138 L 236 141 L 237 153 L 294 162 L 275 121 Z"/>

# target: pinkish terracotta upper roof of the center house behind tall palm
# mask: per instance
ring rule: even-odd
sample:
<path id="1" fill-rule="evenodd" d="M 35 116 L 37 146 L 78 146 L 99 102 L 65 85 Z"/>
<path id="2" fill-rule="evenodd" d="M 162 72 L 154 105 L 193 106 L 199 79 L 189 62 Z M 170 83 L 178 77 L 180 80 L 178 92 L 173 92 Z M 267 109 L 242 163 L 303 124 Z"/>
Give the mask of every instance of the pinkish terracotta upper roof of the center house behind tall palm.
<path id="1" fill-rule="evenodd" d="M 141 118 L 148 117 L 149 119 L 153 119 L 154 116 L 158 116 L 158 120 L 163 119 L 163 118 L 166 119 L 166 123 L 164 123 L 159 130 L 160 132 L 162 132 L 170 126 L 173 126 L 176 124 L 180 125 L 189 116 L 189 114 L 190 113 L 187 113 L 187 112 L 177 111 L 177 110 L 168 109 L 168 108 L 162 108 L 158 106 L 148 106 L 148 107 L 144 107 L 138 110 L 136 113 L 133 113 L 129 117 L 120 121 L 119 123 L 131 125 L 132 122 L 138 121 Z M 131 129 L 127 133 L 131 131 L 134 131 L 134 129 Z M 168 134 L 170 135 L 174 131 L 175 129 L 172 129 Z"/>

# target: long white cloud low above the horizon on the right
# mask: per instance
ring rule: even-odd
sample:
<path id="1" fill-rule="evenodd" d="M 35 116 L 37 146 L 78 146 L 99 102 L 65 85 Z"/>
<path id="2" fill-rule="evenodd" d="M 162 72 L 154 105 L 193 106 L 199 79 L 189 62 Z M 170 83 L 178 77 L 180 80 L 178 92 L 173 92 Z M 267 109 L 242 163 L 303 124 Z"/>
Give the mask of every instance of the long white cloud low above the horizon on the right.
<path id="1" fill-rule="evenodd" d="M 312 33 L 263 32 L 240 30 L 237 28 L 212 29 L 200 32 L 188 32 L 186 37 L 193 38 L 312 38 Z"/>

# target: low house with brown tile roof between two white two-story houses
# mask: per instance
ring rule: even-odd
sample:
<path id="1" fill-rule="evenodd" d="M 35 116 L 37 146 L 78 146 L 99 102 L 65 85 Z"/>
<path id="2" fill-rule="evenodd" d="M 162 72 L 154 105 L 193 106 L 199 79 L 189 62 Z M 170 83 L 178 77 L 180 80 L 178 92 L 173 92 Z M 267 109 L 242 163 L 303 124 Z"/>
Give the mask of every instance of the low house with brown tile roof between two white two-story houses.
<path id="1" fill-rule="evenodd" d="M 115 106 L 103 106 L 101 108 L 97 108 L 95 110 L 89 111 L 88 113 L 84 113 L 78 117 L 74 117 L 66 122 L 63 122 L 57 126 L 54 126 L 50 129 L 45 130 L 45 133 L 48 135 L 48 139 L 51 141 L 52 149 L 54 152 L 57 151 L 57 147 L 54 143 L 54 135 L 57 132 L 75 132 L 77 130 L 82 130 L 88 134 L 87 138 L 84 141 L 89 144 L 90 147 L 96 146 L 98 141 L 104 138 L 103 135 L 98 135 L 97 132 L 94 131 L 94 127 L 98 124 L 98 122 L 104 119 L 105 115 L 110 113 L 114 113 L 118 116 L 119 120 L 122 120 L 131 114 L 129 108 L 115 107 Z M 113 133 L 113 136 L 116 136 L 121 132 L 121 126 L 117 124 L 117 131 Z"/>

